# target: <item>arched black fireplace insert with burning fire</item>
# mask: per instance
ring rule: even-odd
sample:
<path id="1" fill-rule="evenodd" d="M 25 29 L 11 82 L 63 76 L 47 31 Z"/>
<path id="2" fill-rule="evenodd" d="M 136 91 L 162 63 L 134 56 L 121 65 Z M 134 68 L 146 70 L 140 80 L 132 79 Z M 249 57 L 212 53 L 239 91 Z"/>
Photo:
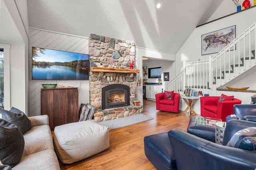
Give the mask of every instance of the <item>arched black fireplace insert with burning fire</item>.
<path id="1" fill-rule="evenodd" d="M 130 87 L 122 84 L 102 88 L 102 109 L 130 105 Z"/>

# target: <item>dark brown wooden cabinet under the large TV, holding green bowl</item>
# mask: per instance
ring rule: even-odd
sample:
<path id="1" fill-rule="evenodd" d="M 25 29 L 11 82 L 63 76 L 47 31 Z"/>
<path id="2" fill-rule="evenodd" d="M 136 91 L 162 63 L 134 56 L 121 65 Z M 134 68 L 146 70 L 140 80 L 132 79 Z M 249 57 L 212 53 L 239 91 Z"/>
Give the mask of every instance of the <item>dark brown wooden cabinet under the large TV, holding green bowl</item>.
<path id="1" fill-rule="evenodd" d="M 51 130 L 78 122 L 78 88 L 41 89 L 41 115 L 48 115 Z"/>

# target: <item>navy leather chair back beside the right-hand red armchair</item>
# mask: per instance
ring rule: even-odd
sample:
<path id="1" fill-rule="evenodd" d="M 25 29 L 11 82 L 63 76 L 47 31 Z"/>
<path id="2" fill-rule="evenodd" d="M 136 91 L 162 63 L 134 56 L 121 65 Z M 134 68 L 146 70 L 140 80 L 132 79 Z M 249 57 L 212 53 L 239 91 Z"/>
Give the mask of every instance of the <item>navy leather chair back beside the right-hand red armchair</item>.
<path id="1" fill-rule="evenodd" d="M 238 119 L 243 119 L 244 116 L 256 116 L 256 105 L 243 104 L 234 105 L 234 114 Z"/>

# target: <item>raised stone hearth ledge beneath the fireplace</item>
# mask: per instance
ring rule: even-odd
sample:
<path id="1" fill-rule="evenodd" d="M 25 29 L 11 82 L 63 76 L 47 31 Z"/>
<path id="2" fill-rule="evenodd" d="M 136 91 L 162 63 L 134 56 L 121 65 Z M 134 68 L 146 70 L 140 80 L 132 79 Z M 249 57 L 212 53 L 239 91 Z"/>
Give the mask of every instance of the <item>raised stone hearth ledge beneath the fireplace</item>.
<path id="1" fill-rule="evenodd" d="M 108 121 L 112 119 L 118 119 L 122 117 L 127 117 L 131 115 L 137 115 L 142 113 L 143 106 L 138 105 L 130 105 L 130 106 L 124 106 L 124 107 L 118 107 L 118 108 L 111 108 L 111 109 L 105 109 L 105 110 L 98 110 L 94 112 L 94 120 L 96 122 L 101 121 Z"/>

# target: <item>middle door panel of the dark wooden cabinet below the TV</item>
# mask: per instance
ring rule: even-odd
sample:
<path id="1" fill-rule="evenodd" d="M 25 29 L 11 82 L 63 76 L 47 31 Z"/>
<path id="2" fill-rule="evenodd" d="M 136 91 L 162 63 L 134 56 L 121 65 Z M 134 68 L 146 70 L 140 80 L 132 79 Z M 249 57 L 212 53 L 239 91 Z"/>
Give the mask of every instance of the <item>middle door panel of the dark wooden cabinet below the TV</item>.
<path id="1" fill-rule="evenodd" d="M 54 127 L 68 123 L 68 90 L 54 90 Z"/>

